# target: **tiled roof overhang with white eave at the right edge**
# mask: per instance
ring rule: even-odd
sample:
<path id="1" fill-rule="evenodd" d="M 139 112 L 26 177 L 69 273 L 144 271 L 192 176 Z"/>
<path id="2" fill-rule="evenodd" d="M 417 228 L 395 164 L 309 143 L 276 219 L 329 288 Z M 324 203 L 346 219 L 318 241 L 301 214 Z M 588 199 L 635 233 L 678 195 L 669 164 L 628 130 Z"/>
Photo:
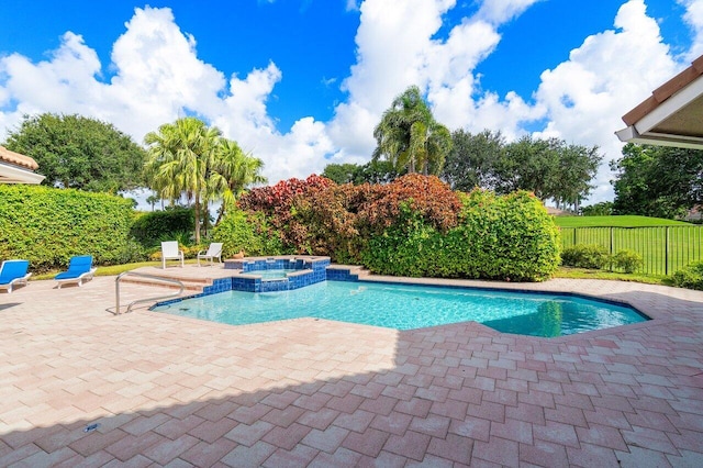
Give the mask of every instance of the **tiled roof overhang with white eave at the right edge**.
<path id="1" fill-rule="evenodd" d="M 623 115 L 622 142 L 703 149 L 703 56 Z"/>

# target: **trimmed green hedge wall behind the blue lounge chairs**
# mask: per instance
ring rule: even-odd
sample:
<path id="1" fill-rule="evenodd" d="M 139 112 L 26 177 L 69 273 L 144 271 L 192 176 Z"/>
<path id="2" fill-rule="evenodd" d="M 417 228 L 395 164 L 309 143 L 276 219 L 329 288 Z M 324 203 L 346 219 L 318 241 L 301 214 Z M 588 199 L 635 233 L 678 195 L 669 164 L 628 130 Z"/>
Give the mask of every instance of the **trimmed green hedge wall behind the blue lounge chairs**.
<path id="1" fill-rule="evenodd" d="M 74 255 L 99 265 L 143 258 L 130 238 L 132 200 L 40 186 L 0 185 L 0 259 L 24 258 L 32 271 L 63 268 Z"/>

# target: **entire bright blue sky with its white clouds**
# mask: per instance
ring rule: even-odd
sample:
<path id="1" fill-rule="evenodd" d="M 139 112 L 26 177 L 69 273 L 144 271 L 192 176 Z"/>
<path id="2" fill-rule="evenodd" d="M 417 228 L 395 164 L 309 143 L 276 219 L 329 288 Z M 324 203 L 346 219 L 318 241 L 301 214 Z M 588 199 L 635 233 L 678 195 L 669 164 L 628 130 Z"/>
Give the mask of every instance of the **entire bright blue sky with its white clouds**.
<path id="1" fill-rule="evenodd" d="M 142 142 L 183 114 L 269 180 L 369 159 L 419 85 L 449 129 L 599 145 L 703 52 L 703 0 L 239 0 L 0 3 L 0 141 L 23 113 L 81 113 Z M 563 105 L 569 102 L 570 105 Z M 602 168 L 593 200 L 612 198 Z"/>

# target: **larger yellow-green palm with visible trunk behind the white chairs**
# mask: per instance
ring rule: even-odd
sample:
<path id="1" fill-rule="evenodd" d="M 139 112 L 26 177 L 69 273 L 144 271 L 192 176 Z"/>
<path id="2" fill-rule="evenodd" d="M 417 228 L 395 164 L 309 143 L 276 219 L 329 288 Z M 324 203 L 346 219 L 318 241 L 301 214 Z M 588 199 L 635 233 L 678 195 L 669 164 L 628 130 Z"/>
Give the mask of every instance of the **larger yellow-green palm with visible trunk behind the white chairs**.
<path id="1" fill-rule="evenodd" d="M 208 177 L 220 135 L 219 129 L 189 116 L 164 124 L 144 137 L 149 146 L 146 175 L 152 188 L 171 203 L 182 193 L 194 202 L 196 244 L 200 243 L 201 200 L 208 212 Z"/>

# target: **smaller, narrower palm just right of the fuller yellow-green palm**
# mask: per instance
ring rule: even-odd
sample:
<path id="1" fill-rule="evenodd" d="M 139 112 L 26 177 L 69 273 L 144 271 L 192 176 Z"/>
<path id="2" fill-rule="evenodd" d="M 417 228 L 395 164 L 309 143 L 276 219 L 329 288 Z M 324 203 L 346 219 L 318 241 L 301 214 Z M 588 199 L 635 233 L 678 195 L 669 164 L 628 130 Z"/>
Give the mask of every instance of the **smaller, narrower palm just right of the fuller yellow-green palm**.
<path id="1" fill-rule="evenodd" d="M 209 180 L 211 198 L 222 198 L 215 224 L 220 223 L 227 210 L 234 207 L 246 187 L 268 181 L 260 174 L 263 168 L 264 161 L 245 154 L 237 142 L 226 138 L 220 140 L 213 171 Z"/>

